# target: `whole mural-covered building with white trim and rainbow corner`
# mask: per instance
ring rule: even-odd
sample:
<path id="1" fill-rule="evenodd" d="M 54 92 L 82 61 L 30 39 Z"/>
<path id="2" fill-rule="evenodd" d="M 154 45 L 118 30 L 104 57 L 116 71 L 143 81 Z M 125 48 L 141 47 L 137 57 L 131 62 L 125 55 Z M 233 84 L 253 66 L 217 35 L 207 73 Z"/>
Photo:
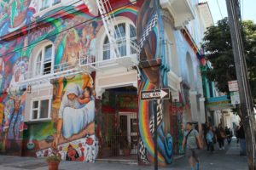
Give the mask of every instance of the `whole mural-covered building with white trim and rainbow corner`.
<path id="1" fill-rule="evenodd" d="M 181 152 L 184 122 L 205 122 L 196 0 L 0 2 L 0 152 L 67 161 Z M 141 92 L 171 88 L 172 99 Z M 127 156 L 125 157 L 127 158 Z"/>

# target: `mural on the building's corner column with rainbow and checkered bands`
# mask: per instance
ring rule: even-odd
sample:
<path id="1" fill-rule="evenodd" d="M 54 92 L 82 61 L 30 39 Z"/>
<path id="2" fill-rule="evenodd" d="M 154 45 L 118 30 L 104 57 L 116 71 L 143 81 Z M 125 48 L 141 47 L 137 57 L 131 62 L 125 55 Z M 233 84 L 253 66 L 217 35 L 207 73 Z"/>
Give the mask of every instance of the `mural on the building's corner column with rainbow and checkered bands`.
<path id="1" fill-rule="evenodd" d="M 160 15 L 159 2 L 144 1 L 137 15 L 137 39 L 142 48 L 140 66 L 142 80 L 141 91 L 167 87 L 166 73 L 169 71 L 163 41 L 164 31 Z M 162 77 L 162 78 L 160 78 Z M 139 98 L 140 99 L 140 98 Z M 154 108 L 157 109 L 158 160 L 161 165 L 172 162 L 172 135 L 168 116 L 168 101 L 139 101 L 139 159 L 144 163 L 154 162 Z"/>

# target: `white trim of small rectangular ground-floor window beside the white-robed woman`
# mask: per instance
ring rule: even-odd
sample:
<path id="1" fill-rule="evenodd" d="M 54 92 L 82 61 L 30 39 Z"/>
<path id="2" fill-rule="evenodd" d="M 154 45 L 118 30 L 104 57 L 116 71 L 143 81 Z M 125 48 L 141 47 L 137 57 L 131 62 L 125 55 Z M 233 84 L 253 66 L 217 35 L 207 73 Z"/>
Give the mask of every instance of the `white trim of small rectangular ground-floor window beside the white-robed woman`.
<path id="1" fill-rule="evenodd" d="M 41 114 L 41 111 L 40 111 L 41 101 L 42 100 L 46 100 L 46 99 L 49 99 L 48 117 L 47 118 L 40 118 L 40 114 Z M 34 101 L 38 101 L 38 109 L 37 109 L 38 110 L 38 118 L 37 119 L 33 119 L 32 118 L 33 111 L 35 111 L 35 109 L 33 109 L 33 102 Z M 41 97 L 41 98 L 34 98 L 34 99 L 32 99 L 31 102 L 30 102 L 29 121 L 30 122 L 50 121 L 51 120 L 51 118 L 50 118 L 51 104 L 52 104 L 52 97 L 51 96 L 44 96 L 44 97 Z"/>

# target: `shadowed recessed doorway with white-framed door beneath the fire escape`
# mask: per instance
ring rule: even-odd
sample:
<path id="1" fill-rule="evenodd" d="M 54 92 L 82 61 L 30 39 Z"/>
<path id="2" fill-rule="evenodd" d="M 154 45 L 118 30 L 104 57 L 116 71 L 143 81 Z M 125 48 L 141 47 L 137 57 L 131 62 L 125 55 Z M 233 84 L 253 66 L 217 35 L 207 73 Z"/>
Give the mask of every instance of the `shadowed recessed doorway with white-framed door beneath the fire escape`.
<path id="1" fill-rule="evenodd" d="M 102 95 L 97 115 L 99 158 L 137 161 L 137 88 L 112 88 Z"/>

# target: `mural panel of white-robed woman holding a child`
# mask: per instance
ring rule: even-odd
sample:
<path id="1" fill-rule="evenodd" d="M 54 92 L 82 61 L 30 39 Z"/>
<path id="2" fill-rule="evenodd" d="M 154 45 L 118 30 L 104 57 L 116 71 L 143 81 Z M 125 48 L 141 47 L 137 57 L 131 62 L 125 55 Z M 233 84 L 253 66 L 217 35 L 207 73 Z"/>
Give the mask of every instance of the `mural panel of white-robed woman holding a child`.
<path id="1" fill-rule="evenodd" d="M 57 153 L 67 161 L 95 161 L 98 144 L 93 82 L 89 74 L 64 77 L 53 82 L 51 116 L 52 122 L 55 122 L 55 133 L 44 150 L 36 153 L 37 156 Z"/>

